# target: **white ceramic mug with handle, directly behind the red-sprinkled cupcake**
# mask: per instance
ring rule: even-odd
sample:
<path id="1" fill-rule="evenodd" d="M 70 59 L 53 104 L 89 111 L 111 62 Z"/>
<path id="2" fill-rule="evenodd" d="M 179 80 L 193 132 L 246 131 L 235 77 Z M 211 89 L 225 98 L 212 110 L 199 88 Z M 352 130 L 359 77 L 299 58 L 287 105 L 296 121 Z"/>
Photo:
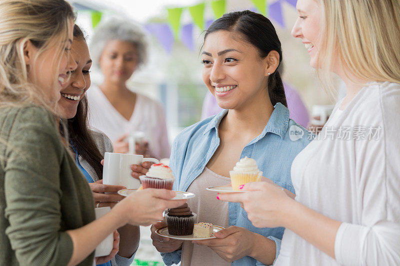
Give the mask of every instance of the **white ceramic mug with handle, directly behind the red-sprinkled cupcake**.
<path id="1" fill-rule="evenodd" d="M 127 189 L 137 189 L 140 181 L 131 176 L 132 164 L 143 162 L 158 164 L 155 158 L 143 158 L 143 155 L 106 152 L 104 154 L 103 184 L 124 186 Z"/>

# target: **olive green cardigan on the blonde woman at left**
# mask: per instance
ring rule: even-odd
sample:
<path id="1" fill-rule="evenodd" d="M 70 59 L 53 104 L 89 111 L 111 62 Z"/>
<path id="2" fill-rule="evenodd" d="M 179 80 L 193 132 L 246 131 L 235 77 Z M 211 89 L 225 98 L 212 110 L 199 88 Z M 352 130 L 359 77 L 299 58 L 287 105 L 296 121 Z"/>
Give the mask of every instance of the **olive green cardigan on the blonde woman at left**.
<path id="1" fill-rule="evenodd" d="M 87 181 L 38 106 L 0 108 L 0 265 L 61 266 L 94 220 Z M 79 265 L 92 266 L 92 253 Z"/>

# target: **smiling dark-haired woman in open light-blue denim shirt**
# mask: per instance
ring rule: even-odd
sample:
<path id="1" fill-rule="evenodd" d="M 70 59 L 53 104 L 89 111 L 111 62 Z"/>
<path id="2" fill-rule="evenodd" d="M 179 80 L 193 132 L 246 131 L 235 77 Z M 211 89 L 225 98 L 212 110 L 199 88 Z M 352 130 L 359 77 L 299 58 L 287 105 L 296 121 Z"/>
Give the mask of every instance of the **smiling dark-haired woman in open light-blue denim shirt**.
<path id="1" fill-rule="evenodd" d="M 189 207 L 207 210 L 198 214 L 198 221 L 212 223 L 226 217 L 228 228 L 216 233 L 216 239 L 196 241 L 193 246 L 155 235 L 156 228 L 165 226 L 159 223 L 152 227 L 153 245 L 168 266 L 179 262 L 192 266 L 271 265 L 284 229 L 255 228 L 239 204 L 228 203 L 224 209 L 217 206 L 222 202 L 216 199 L 216 193 L 205 190 L 216 183 L 198 187 L 200 183 L 196 182 L 203 175 L 213 176 L 216 181 L 228 180 L 229 170 L 247 156 L 256 160 L 265 177 L 288 194 L 294 193 L 290 166 L 309 140 L 308 131 L 289 119 L 276 71 L 282 60 L 280 41 L 271 22 L 261 14 L 231 12 L 208 28 L 201 56 L 203 81 L 225 110 L 176 137 L 170 157 L 176 178 L 173 189 L 195 190 L 196 197 L 188 201 Z M 212 215 L 215 210 L 217 214 Z"/>

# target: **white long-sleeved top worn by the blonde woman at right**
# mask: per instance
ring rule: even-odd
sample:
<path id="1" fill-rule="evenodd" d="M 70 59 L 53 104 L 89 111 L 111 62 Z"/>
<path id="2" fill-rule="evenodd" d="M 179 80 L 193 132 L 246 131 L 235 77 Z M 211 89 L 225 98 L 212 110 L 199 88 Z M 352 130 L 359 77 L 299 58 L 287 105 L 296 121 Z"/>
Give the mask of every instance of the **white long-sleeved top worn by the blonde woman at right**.
<path id="1" fill-rule="evenodd" d="M 291 166 L 295 199 L 343 222 L 336 260 L 286 229 L 275 266 L 400 265 L 400 84 L 370 83 L 338 105 Z"/>

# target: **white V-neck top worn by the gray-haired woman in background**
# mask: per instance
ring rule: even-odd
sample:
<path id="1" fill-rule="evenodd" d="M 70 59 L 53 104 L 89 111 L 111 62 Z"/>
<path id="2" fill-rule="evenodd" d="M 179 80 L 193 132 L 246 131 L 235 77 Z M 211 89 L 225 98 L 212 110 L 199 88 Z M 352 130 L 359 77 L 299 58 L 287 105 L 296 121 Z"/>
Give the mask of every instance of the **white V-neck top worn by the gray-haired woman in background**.
<path id="1" fill-rule="evenodd" d="M 89 125 L 104 132 L 112 143 L 125 133 L 142 131 L 148 141 L 150 155 L 158 159 L 169 158 L 165 114 L 159 103 L 136 93 L 132 116 L 126 120 L 97 86 L 92 85 L 86 94 Z"/>

